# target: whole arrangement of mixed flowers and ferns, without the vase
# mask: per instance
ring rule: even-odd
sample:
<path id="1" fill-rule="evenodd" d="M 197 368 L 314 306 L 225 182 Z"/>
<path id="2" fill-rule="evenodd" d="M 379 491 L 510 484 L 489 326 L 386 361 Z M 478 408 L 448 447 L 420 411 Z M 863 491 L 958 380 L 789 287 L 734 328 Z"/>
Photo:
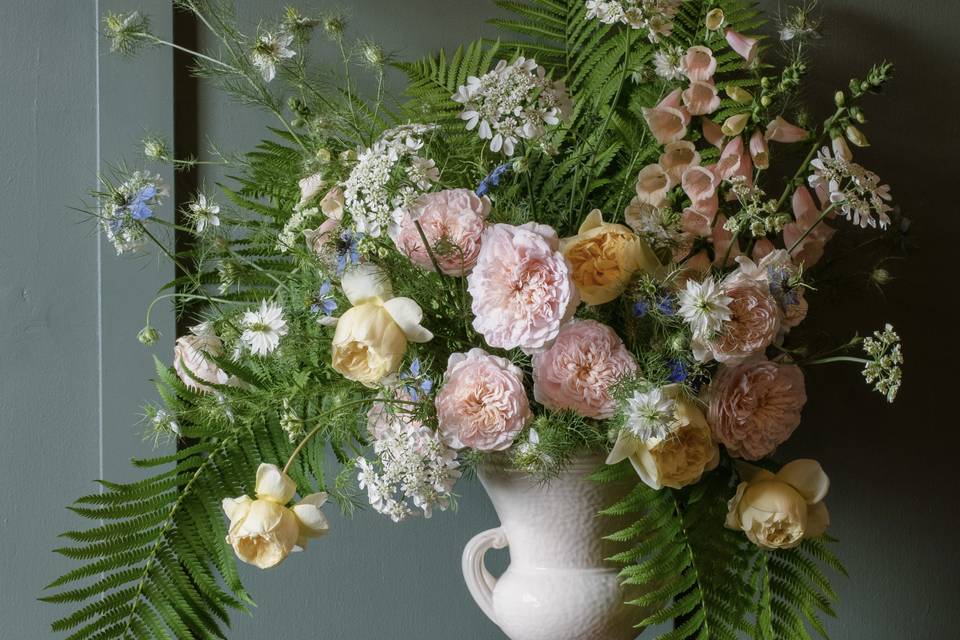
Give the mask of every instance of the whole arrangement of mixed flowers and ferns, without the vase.
<path id="1" fill-rule="evenodd" d="M 173 259 L 160 297 L 196 326 L 158 363 L 165 406 L 146 409 L 179 447 L 77 501 L 109 522 L 65 534 L 83 564 L 46 599 L 81 606 L 55 630 L 222 637 L 251 602 L 225 544 L 267 569 L 327 533 L 332 506 L 430 517 L 479 465 L 549 481 L 592 451 L 598 482 L 633 478 L 606 513 L 633 517 L 612 536 L 624 581 L 657 585 L 638 624 L 824 633 L 824 565 L 842 571 L 829 482 L 775 452 L 817 365 L 858 363 L 889 401 L 900 386 L 889 325 L 833 345 L 803 329 L 834 236 L 893 246 L 907 222 L 850 146 L 868 144 L 863 102 L 889 65 L 817 121 L 797 99 L 808 7 L 778 44 L 749 35 L 766 23 L 748 0 L 504 1 L 515 42 L 405 63 L 352 44 L 336 14 L 288 9 L 245 34 L 228 6 L 176 4 L 222 44 L 193 52 L 197 73 L 282 127 L 214 156 L 238 177 L 176 223 L 154 215 L 169 195 L 154 174 L 103 180 L 105 236 Z M 104 31 L 121 52 L 170 44 L 137 13 Z M 332 86 L 307 60 L 315 31 L 342 53 Z M 409 78 L 399 100 L 391 65 Z M 144 152 L 198 162 L 157 138 Z M 158 339 L 148 319 L 140 340 Z"/>

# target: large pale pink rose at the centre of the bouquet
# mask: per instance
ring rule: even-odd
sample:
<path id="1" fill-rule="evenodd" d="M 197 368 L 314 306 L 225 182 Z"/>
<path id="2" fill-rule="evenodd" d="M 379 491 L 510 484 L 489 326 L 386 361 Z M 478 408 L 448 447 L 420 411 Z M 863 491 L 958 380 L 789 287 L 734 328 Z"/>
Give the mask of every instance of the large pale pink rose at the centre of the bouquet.
<path id="1" fill-rule="evenodd" d="M 546 225 L 495 224 L 484 232 L 467 286 L 473 328 L 491 347 L 540 351 L 573 316 L 580 298 L 558 249 Z"/>

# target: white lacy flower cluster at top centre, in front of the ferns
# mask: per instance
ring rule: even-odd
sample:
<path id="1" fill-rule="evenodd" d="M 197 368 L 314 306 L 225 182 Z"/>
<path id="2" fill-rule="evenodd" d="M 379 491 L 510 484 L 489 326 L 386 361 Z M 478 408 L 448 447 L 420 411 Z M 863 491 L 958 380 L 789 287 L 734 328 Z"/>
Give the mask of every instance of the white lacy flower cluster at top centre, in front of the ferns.
<path id="1" fill-rule="evenodd" d="M 546 77 L 546 69 L 533 58 L 501 60 L 482 77 L 470 76 L 453 95 L 463 105 L 460 118 L 467 130 L 477 129 L 490 150 L 512 156 L 517 142 L 537 140 L 547 126 L 570 116 L 573 105 L 566 85 Z M 479 127 L 479 128 L 478 128 Z"/>

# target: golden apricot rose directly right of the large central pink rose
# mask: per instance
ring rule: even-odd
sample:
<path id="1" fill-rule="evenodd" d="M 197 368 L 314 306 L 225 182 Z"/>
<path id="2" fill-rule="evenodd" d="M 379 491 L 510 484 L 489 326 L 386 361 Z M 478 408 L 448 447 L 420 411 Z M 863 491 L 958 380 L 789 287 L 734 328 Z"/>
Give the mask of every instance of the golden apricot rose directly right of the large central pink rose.
<path id="1" fill-rule="evenodd" d="M 619 296 L 637 271 L 660 267 L 643 240 L 622 224 L 604 222 L 599 209 L 590 212 L 577 235 L 560 242 L 560 251 L 573 267 L 580 297 L 590 305 Z"/>

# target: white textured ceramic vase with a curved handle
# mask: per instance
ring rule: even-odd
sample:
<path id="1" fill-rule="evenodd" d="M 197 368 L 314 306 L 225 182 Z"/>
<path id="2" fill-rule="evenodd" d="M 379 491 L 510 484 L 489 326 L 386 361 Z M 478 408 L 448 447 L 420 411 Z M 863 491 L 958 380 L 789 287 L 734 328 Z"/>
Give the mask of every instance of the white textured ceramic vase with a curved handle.
<path id="1" fill-rule="evenodd" d="M 642 612 L 624 604 L 617 569 L 604 561 L 611 548 L 602 538 L 617 523 L 597 514 L 625 488 L 587 477 L 602 463 L 600 457 L 579 458 L 549 483 L 519 471 L 480 470 L 501 524 L 467 543 L 463 577 L 483 612 L 511 640 L 639 635 L 633 625 Z M 494 578 L 484 554 L 506 546 L 510 566 Z"/>

